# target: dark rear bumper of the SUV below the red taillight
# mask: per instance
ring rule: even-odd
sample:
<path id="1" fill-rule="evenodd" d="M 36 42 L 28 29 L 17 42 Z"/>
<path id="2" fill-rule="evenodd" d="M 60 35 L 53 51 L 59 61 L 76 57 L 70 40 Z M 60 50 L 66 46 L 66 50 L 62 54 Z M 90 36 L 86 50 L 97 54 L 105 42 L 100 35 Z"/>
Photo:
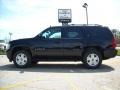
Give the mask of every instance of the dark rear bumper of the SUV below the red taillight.
<path id="1" fill-rule="evenodd" d="M 117 50 L 114 48 L 109 48 L 104 50 L 104 57 L 105 58 L 112 58 L 115 57 L 117 55 Z"/>

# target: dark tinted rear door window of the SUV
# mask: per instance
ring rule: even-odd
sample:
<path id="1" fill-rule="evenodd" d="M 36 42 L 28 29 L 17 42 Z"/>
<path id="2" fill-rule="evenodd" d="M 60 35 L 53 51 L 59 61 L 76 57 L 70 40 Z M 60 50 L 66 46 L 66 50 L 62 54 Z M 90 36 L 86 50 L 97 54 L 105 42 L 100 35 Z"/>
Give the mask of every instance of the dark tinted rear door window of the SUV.
<path id="1" fill-rule="evenodd" d="M 69 38 L 69 39 L 74 39 L 74 38 L 82 38 L 82 32 L 80 28 L 78 27 L 67 27 L 64 28 L 64 35 L 63 38 Z"/>

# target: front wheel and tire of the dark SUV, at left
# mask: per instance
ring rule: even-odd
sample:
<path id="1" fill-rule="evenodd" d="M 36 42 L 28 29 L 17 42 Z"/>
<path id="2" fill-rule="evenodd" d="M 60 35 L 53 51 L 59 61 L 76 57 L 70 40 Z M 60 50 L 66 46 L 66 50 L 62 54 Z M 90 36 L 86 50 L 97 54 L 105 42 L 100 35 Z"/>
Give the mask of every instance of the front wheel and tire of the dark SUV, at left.
<path id="1" fill-rule="evenodd" d="M 24 50 L 17 51 L 13 55 L 13 62 L 18 68 L 26 68 L 31 65 L 31 55 Z"/>

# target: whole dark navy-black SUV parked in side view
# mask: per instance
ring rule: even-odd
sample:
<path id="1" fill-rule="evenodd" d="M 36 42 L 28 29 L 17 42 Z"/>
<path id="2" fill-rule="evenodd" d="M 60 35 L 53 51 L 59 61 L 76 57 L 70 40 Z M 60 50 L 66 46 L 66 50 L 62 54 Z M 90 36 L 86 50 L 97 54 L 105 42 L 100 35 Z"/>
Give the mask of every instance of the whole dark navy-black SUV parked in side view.
<path id="1" fill-rule="evenodd" d="M 43 60 L 82 61 L 87 68 L 97 68 L 102 60 L 116 56 L 115 47 L 116 39 L 107 27 L 55 26 L 34 38 L 9 42 L 7 57 L 19 68 Z"/>

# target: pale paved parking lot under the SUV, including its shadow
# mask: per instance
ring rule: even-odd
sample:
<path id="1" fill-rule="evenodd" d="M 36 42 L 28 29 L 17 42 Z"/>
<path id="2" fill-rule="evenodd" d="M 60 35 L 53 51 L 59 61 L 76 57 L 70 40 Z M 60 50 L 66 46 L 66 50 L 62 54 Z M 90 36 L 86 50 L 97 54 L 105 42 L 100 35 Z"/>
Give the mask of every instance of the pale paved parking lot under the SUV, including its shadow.
<path id="1" fill-rule="evenodd" d="M 39 62 L 19 69 L 1 55 L 0 90 L 120 90 L 120 57 L 94 70 L 80 62 Z"/>

